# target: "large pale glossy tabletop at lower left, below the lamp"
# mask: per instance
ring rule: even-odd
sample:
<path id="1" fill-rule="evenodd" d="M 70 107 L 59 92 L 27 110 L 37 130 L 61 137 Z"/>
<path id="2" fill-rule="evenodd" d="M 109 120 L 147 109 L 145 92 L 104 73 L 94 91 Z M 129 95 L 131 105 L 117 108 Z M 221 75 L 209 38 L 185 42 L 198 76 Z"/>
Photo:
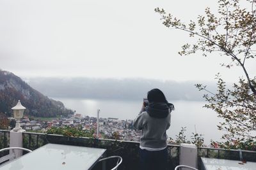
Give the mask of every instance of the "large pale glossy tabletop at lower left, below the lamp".
<path id="1" fill-rule="evenodd" d="M 91 169 L 104 152 L 101 148 L 49 143 L 4 164 L 0 170 Z"/>

